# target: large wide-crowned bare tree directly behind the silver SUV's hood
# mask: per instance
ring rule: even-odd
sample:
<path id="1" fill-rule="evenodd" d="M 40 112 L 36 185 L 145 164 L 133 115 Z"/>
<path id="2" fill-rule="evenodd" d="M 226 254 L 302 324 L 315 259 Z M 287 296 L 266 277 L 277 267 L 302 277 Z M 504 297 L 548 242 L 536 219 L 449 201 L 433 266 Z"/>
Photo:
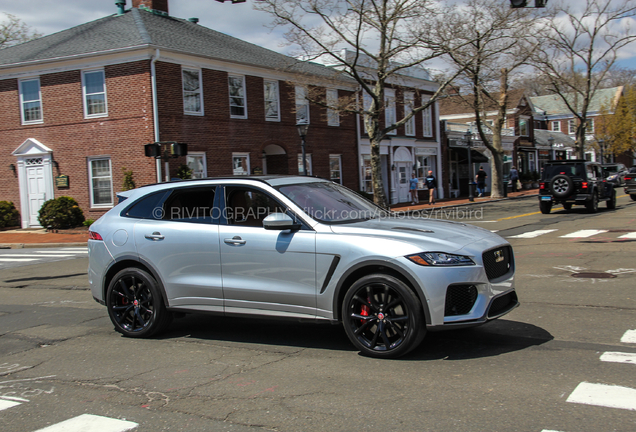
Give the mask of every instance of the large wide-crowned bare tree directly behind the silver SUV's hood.
<path id="1" fill-rule="evenodd" d="M 394 124 L 382 125 L 385 86 L 400 85 L 409 68 L 439 57 L 458 43 L 439 44 L 430 25 L 441 11 L 433 0 L 265 0 L 255 7 L 288 28 L 287 41 L 304 59 L 321 59 L 353 78 L 360 88 L 355 103 L 343 104 L 364 118 L 371 144 L 374 201 L 387 207 L 381 176 L 380 142 L 435 103 L 449 81 L 428 102 L 412 107 Z M 451 77 L 452 78 L 452 77 Z M 363 103 L 362 94 L 370 97 Z M 320 102 L 320 101 L 318 101 Z"/>

